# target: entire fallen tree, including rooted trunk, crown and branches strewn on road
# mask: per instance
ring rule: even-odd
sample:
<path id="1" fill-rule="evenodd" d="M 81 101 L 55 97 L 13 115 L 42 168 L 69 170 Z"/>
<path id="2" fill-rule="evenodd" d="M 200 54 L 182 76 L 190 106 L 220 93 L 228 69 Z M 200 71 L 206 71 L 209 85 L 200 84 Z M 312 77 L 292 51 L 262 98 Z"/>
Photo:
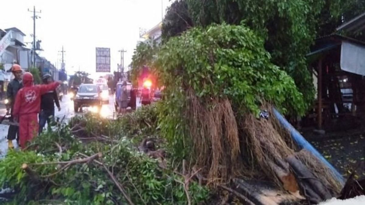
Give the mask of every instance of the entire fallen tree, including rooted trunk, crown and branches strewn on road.
<path id="1" fill-rule="evenodd" d="M 305 104 L 263 43 L 225 24 L 170 39 L 151 63 L 166 99 L 115 121 L 86 115 L 59 125 L 0 161 L 1 185 L 16 190 L 19 204 L 311 204 L 336 196 L 341 183 L 331 170 L 299 150 L 271 113 L 275 105 L 302 115 Z"/>

